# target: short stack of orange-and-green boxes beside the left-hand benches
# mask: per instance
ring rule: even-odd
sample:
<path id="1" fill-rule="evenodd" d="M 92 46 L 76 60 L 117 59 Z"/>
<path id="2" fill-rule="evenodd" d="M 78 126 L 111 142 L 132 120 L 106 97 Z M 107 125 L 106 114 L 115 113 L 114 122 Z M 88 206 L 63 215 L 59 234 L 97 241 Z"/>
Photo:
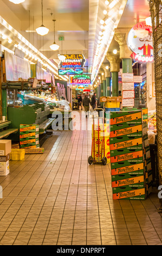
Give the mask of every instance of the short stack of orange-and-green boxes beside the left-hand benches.
<path id="1" fill-rule="evenodd" d="M 20 125 L 20 148 L 39 148 L 39 125 Z"/>

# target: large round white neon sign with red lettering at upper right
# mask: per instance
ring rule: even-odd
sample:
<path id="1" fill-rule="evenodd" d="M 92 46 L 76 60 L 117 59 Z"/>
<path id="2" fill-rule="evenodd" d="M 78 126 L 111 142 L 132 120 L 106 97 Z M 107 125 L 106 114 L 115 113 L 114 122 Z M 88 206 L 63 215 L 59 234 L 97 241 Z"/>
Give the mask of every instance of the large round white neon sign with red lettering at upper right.
<path id="1" fill-rule="evenodd" d="M 127 44 L 133 52 L 130 57 L 141 63 L 153 62 L 152 27 L 146 21 L 136 24 L 128 34 Z"/>

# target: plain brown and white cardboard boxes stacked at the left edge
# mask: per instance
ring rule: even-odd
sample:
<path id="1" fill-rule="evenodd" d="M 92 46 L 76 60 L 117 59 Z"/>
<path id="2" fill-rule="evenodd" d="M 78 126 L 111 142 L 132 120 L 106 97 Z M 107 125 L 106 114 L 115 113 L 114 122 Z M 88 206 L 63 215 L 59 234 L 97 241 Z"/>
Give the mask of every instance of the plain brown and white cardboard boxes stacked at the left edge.
<path id="1" fill-rule="evenodd" d="M 11 140 L 0 140 L 0 176 L 9 174 L 9 158 L 11 153 Z"/>

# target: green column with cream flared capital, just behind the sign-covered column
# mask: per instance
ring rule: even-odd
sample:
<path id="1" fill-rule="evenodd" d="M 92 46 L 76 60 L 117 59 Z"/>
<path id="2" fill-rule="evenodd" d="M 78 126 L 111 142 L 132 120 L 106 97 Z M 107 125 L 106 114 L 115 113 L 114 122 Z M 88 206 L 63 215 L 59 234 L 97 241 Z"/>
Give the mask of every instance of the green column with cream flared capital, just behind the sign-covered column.
<path id="1" fill-rule="evenodd" d="M 110 62 L 110 71 L 112 76 L 112 96 L 118 96 L 119 88 L 119 71 L 121 59 L 118 55 L 110 54 L 107 52 L 107 59 Z"/>

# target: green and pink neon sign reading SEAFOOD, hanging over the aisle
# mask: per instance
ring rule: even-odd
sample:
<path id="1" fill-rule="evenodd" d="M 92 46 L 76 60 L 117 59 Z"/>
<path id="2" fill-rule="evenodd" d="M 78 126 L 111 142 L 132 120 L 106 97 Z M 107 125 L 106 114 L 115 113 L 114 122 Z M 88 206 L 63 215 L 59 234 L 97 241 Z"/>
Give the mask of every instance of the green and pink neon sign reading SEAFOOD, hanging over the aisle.
<path id="1" fill-rule="evenodd" d="M 91 84 L 91 74 L 70 76 L 70 84 Z"/>

